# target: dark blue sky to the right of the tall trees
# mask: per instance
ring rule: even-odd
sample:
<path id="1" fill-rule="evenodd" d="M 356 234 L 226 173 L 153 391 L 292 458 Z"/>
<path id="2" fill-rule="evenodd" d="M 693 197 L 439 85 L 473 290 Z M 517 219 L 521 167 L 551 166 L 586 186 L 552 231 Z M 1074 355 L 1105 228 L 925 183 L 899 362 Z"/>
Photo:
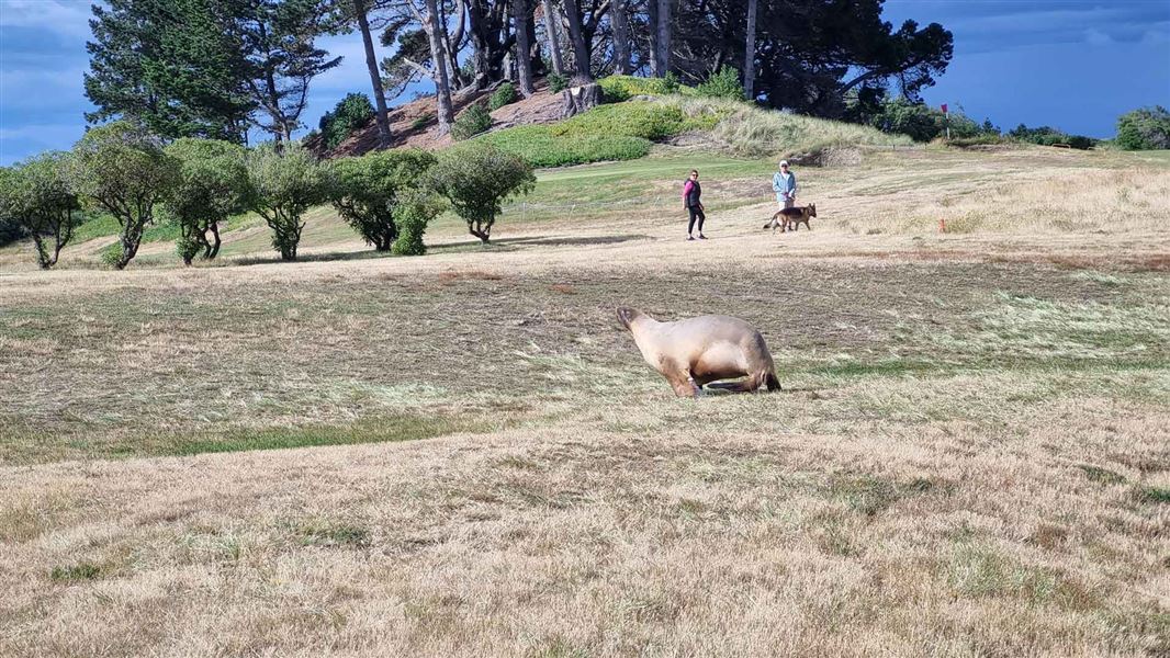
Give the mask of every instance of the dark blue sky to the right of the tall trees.
<path id="1" fill-rule="evenodd" d="M 1119 115 L 1170 108 L 1170 0 L 887 0 L 883 18 L 951 30 L 955 56 L 923 98 L 1005 130 L 1112 137 Z"/>

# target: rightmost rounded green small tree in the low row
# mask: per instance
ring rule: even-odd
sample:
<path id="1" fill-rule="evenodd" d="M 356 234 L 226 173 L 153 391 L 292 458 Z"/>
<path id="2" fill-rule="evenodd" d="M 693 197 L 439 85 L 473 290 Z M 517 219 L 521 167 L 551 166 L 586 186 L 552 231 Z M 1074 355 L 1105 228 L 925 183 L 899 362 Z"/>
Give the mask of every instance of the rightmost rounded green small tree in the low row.
<path id="1" fill-rule="evenodd" d="M 467 222 L 468 233 L 484 243 L 504 199 L 528 194 L 536 185 L 528 162 L 483 143 L 448 148 L 439 155 L 429 178 L 431 187 L 450 200 Z"/>

